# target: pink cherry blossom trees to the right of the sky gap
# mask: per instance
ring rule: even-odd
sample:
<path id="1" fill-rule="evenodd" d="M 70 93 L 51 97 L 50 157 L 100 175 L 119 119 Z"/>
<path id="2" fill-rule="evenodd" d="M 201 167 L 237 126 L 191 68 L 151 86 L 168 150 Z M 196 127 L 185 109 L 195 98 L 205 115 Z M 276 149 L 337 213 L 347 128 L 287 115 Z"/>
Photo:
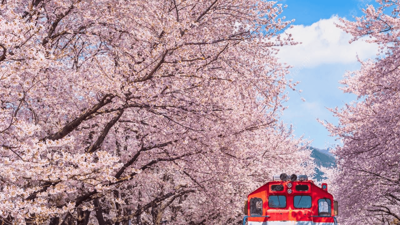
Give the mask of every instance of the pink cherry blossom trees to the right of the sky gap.
<path id="1" fill-rule="evenodd" d="M 342 81 L 358 101 L 334 109 L 339 124 L 327 124 L 342 139 L 336 149 L 340 221 L 345 224 L 393 224 L 400 219 L 400 1 L 378 1 L 355 22 L 342 20 L 354 36 L 380 46 L 378 57 Z"/>

